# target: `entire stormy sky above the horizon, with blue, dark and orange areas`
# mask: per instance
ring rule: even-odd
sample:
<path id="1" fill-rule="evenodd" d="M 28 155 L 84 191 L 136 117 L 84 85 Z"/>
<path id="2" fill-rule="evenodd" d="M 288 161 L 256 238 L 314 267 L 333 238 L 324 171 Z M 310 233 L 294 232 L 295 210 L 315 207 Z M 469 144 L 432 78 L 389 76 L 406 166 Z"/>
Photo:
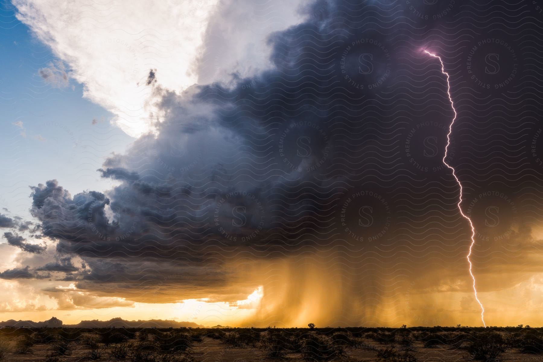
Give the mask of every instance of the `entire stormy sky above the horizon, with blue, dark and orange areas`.
<path id="1" fill-rule="evenodd" d="M 534 2 L 1 9 L 1 320 L 543 325 Z"/>

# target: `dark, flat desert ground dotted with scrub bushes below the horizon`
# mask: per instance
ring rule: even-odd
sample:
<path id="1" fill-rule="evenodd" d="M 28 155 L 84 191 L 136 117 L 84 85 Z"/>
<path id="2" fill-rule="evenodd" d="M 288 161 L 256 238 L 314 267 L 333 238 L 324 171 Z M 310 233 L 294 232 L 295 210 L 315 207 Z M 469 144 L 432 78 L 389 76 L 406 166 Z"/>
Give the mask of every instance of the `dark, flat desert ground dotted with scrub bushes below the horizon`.
<path id="1" fill-rule="evenodd" d="M 0 361 L 541 361 L 543 328 L 2 328 Z"/>

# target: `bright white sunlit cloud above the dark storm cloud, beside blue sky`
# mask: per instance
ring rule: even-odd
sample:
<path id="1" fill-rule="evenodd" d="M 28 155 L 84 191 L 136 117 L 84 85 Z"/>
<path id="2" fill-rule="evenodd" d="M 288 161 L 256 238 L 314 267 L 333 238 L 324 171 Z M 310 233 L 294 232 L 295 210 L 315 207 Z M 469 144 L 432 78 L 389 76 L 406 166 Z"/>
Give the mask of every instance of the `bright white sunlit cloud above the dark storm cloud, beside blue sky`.
<path id="1" fill-rule="evenodd" d="M 156 116 L 147 78 L 182 90 L 218 0 L 15 0 L 17 17 L 70 66 L 84 96 L 115 115 L 131 136 Z"/>

